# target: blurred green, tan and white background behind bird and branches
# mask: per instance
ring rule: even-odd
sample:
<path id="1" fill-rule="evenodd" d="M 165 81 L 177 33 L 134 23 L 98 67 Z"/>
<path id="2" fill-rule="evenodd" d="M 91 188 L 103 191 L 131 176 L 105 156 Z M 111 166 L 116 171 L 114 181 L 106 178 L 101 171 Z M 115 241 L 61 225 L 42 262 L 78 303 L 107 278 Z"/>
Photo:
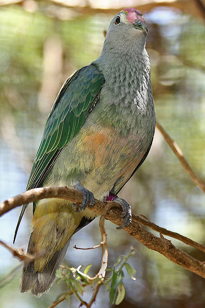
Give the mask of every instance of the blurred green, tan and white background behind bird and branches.
<path id="1" fill-rule="evenodd" d="M 205 2 L 110 0 L 0 1 L 0 200 L 23 192 L 44 125 L 61 84 L 81 66 L 95 60 L 103 31 L 121 8 L 144 12 L 149 33 L 152 85 L 158 122 L 175 139 L 201 178 L 205 178 Z M 146 162 L 120 192 L 135 214 L 205 244 L 205 198 L 156 131 Z M 0 238 L 12 244 L 20 208 L 1 218 Z M 32 206 L 20 225 L 16 247 L 26 247 Z M 119 307 L 205 306 L 205 280 L 106 222 L 109 265 L 130 246 L 136 281 L 125 278 L 127 294 Z M 101 251 L 76 251 L 100 242 L 98 219 L 72 239 L 66 262 L 77 267 L 92 263 L 98 271 Z M 204 253 L 172 240 L 177 247 L 204 261 Z M 0 279 L 19 261 L 0 247 Z M 53 285 L 40 299 L 18 290 L 20 269 L 8 284 L 0 283 L 0 307 L 45 308 L 65 290 Z M 89 299 L 91 290 L 85 296 Z M 79 303 L 73 298 L 71 307 Z M 101 288 L 95 307 L 112 307 Z M 67 307 L 66 302 L 58 305 Z"/>

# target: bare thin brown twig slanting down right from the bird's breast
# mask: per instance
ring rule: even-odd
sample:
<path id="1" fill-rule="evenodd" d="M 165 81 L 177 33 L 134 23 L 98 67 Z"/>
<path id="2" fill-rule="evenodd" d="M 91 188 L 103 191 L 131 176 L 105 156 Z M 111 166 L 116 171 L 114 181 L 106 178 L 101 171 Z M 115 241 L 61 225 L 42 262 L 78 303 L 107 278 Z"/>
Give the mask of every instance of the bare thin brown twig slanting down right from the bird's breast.
<path id="1" fill-rule="evenodd" d="M 201 190 L 203 192 L 205 192 L 205 183 L 199 177 L 196 176 L 195 172 L 192 170 L 192 168 L 190 167 L 190 165 L 186 161 L 185 157 L 183 156 L 181 149 L 176 144 L 176 142 L 168 135 L 168 133 L 161 127 L 161 125 L 158 122 L 156 122 L 156 127 L 161 132 L 163 138 L 165 138 L 166 142 L 169 144 L 169 146 L 171 147 L 171 149 L 173 150 L 173 152 L 175 153 L 175 155 L 179 159 L 182 167 L 185 169 L 187 174 L 192 178 L 194 183 L 199 188 L 201 188 Z"/>

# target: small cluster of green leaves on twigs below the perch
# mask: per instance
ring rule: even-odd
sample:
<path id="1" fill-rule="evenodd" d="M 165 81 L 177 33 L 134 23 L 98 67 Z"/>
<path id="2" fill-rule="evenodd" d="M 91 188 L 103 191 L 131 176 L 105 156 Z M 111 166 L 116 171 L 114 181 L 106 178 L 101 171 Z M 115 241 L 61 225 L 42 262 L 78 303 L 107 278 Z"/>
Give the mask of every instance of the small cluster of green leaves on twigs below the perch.
<path id="1" fill-rule="evenodd" d="M 58 277 L 56 283 L 64 281 L 66 283 L 67 292 L 60 294 L 56 302 L 64 297 L 67 300 L 68 305 L 71 305 L 71 295 L 74 294 L 76 298 L 82 303 L 80 296 L 83 296 L 85 292 L 85 287 L 90 285 L 93 289 L 97 283 L 100 285 L 106 285 L 107 291 L 110 294 L 110 302 L 112 304 L 118 305 L 124 299 L 126 294 L 126 288 L 123 283 L 125 274 L 124 269 L 126 269 L 128 275 L 131 279 L 136 280 L 133 275 L 136 273 L 135 269 L 127 263 L 128 259 L 135 254 L 134 248 L 131 247 L 129 254 L 119 256 L 112 268 L 106 269 L 106 277 L 99 278 L 97 275 L 90 277 L 88 275 L 89 269 L 92 266 L 88 264 L 86 267 L 83 265 L 74 267 L 61 266 L 60 269 L 56 270 L 56 276 Z M 82 271 L 82 269 L 84 269 Z M 110 275 L 107 275 L 110 273 Z"/>

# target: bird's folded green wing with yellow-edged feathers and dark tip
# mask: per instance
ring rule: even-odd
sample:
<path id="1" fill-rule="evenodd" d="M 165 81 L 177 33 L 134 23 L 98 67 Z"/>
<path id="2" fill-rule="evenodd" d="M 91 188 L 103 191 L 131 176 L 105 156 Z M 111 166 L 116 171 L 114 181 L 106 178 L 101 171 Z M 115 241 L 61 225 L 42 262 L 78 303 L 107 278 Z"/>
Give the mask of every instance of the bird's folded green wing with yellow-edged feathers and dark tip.
<path id="1" fill-rule="evenodd" d="M 65 82 L 46 122 L 26 189 L 43 184 L 60 151 L 78 133 L 97 103 L 104 83 L 103 74 L 94 64 L 79 69 Z M 24 205 L 20 213 L 14 241 L 26 207 Z"/>

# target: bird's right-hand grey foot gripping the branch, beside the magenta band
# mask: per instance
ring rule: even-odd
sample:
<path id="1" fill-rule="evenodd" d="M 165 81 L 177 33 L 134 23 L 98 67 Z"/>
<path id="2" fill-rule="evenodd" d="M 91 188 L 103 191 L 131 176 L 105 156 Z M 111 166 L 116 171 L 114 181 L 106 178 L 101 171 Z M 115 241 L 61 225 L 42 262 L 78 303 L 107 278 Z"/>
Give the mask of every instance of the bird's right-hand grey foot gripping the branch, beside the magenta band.
<path id="1" fill-rule="evenodd" d="M 122 229 L 127 227 L 131 221 L 132 221 L 132 212 L 131 212 L 131 207 L 130 204 L 127 203 L 127 201 L 125 201 L 122 198 L 117 197 L 116 195 L 110 194 L 106 201 L 115 201 L 120 203 L 121 207 L 122 207 L 122 214 L 120 215 L 121 218 L 124 218 L 124 222 L 122 222 L 121 226 L 117 227 L 117 229 Z"/>

